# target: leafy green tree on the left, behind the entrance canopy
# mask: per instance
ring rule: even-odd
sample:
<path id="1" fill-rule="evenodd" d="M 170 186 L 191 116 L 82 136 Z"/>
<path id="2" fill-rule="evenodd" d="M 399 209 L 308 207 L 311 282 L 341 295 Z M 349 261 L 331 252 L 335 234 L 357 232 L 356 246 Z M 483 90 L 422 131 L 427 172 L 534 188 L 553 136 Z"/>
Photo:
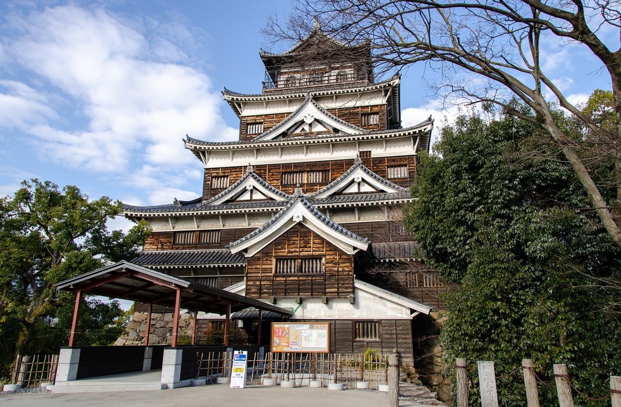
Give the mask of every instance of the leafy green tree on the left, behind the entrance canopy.
<path id="1" fill-rule="evenodd" d="M 75 296 L 54 284 L 93 271 L 106 261 L 131 259 L 150 229 L 139 223 L 125 235 L 106 221 L 120 202 L 89 200 L 75 186 L 23 182 L 0 199 L 0 378 L 16 353 L 55 353 L 66 345 Z M 78 344 L 108 344 L 122 333 L 117 302 L 88 298 Z"/>

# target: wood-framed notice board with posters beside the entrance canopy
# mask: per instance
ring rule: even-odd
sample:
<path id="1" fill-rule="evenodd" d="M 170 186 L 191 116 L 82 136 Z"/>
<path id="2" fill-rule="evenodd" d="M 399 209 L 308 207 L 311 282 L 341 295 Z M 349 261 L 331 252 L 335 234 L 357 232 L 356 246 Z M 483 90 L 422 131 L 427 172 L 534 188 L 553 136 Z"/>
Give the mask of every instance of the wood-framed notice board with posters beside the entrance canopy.
<path id="1" fill-rule="evenodd" d="M 287 342 L 282 342 L 283 338 Z M 290 346 L 286 346 L 286 343 Z M 286 353 L 329 353 L 330 323 L 273 322 L 270 349 L 272 352 Z"/>

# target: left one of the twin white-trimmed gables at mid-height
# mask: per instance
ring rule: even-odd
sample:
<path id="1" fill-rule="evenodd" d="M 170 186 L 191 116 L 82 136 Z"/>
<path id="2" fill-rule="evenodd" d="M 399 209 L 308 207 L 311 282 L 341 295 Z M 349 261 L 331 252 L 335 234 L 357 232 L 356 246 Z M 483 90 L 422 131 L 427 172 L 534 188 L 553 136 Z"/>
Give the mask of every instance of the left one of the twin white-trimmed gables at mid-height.
<path id="1" fill-rule="evenodd" d="M 281 190 L 278 190 L 265 182 L 263 178 L 256 175 L 255 170 L 251 165 L 248 165 L 246 168 L 246 174 L 235 184 L 228 187 L 224 191 L 220 192 L 220 194 L 215 195 L 209 200 L 206 200 L 202 203 L 202 206 L 206 207 L 208 205 L 221 205 L 225 203 L 233 203 L 233 202 L 248 202 L 250 201 L 250 191 L 255 190 L 258 192 L 259 197 L 254 198 L 258 200 L 276 200 L 276 201 L 286 201 L 291 199 L 291 195 L 285 194 Z"/>

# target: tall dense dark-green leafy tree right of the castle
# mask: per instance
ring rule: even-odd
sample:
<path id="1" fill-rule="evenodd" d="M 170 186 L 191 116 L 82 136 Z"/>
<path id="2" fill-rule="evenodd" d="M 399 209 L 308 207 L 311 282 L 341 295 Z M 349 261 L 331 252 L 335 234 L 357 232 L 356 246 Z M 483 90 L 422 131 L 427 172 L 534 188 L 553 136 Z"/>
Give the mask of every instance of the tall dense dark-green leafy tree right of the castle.
<path id="1" fill-rule="evenodd" d="M 609 375 L 621 375 L 620 292 L 610 284 L 621 253 L 560 151 L 532 123 L 479 115 L 444 128 L 435 151 L 420 160 L 406 226 L 458 284 L 440 339 L 448 365 L 468 360 L 471 405 L 476 360 L 494 360 L 504 406 L 526 404 L 516 371 L 525 358 L 543 380 L 542 405 L 558 403 L 558 363 L 579 391 L 605 397 Z M 610 403 L 574 396 L 583 406 Z"/>

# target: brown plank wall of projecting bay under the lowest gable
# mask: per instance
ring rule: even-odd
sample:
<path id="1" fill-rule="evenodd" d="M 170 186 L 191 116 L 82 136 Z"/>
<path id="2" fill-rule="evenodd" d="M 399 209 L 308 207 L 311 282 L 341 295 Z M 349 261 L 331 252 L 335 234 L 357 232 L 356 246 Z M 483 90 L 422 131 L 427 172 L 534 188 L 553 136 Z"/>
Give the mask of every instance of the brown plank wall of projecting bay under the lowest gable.
<path id="1" fill-rule="evenodd" d="M 274 258 L 279 256 L 324 257 L 324 272 L 274 274 Z M 353 294 L 353 257 L 299 223 L 260 253 L 248 257 L 246 272 L 247 297 L 346 297 Z"/>

